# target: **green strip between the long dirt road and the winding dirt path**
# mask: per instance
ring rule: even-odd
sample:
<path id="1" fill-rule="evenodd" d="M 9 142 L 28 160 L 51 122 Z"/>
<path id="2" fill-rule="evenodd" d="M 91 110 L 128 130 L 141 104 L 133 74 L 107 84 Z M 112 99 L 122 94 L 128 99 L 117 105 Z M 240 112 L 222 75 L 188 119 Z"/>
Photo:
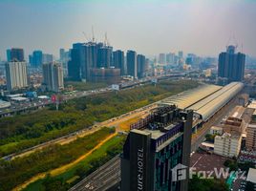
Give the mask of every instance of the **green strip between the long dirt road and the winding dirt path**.
<path id="1" fill-rule="evenodd" d="M 0 161 L 0 190 L 10 190 L 38 173 L 47 172 L 79 158 L 114 132 L 115 129 L 103 128 L 69 144 L 55 144 L 24 158 Z"/>

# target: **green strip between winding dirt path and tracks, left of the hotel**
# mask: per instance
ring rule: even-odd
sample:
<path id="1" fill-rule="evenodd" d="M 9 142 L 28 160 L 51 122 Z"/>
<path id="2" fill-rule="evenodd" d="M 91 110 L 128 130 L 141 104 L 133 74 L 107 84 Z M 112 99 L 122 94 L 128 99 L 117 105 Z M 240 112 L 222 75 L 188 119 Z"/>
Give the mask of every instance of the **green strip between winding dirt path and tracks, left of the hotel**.
<path id="1" fill-rule="evenodd" d="M 31 183 L 24 191 L 55 191 L 56 188 L 58 188 L 57 190 L 68 190 L 75 183 L 94 172 L 99 166 L 117 156 L 122 151 L 124 140 L 125 137 L 123 136 L 111 138 L 92 155 L 83 159 L 65 173 L 56 177 L 49 176 L 43 180 L 37 180 Z"/>

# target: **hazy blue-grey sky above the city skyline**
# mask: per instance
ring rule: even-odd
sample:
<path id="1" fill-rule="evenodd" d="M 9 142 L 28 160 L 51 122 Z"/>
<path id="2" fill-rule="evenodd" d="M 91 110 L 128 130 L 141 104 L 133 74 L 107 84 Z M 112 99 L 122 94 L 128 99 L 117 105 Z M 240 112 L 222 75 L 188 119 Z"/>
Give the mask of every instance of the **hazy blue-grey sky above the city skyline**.
<path id="1" fill-rule="evenodd" d="M 256 56 L 255 0 L 0 0 L 0 56 L 11 47 L 58 56 L 92 26 L 97 41 L 107 32 L 124 51 L 217 56 L 235 36 Z"/>

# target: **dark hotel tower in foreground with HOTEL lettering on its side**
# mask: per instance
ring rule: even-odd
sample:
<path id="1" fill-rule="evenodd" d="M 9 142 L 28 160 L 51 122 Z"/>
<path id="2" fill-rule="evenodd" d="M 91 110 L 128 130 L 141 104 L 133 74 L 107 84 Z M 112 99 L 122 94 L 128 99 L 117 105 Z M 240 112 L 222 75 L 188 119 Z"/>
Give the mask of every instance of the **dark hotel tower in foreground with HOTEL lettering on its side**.
<path id="1" fill-rule="evenodd" d="M 121 154 L 121 191 L 187 190 L 193 111 L 163 106 L 134 124 Z M 176 175 L 176 176 L 175 176 Z"/>

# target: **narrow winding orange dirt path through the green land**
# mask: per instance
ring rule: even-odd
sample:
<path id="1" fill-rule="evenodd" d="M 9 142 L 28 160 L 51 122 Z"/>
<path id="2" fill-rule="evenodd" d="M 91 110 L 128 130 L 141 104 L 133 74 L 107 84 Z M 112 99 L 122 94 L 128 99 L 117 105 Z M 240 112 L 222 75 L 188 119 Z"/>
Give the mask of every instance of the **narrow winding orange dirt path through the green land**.
<path id="1" fill-rule="evenodd" d="M 25 181 L 24 183 L 16 186 L 15 188 L 12 189 L 12 191 L 19 191 L 22 190 L 24 188 L 26 188 L 29 184 L 31 184 L 32 182 L 39 180 L 39 179 L 43 179 L 45 178 L 45 176 L 47 174 L 51 174 L 53 176 L 59 175 L 63 172 L 65 172 L 67 169 L 73 167 L 75 164 L 77 164 L 78 162 L 80 162 L 83 159 L 86 159 L 89 155 L 91 155 L 94 151 L 96 151 L 96 149 L 98 149 L 100 146 L 102 146 L 106 141 L 108 141 L 111 138 L 114 138 L 115 136 L 117 136 L 117 133 L 112 134 L 110 136 L 108 136 L 107 138 L 101 140 L 95 148 L 93 148 L 92 150 L 90 150 L 89 152 L 87 152 L 86 154 L 84 154 L 83 156 L 79 157 L 78 159 L 75 159 L 74 161 L 72 161 L 71 163 L 65 164 L 63 166 L 60 166 L 58 168 L 55 168 L 53 170 L 50 170 L 48 172 L 44 172 L 44 173 L 40 173 L 35 175 L 34 177 L 32 177 L 30 180 Z"/>

